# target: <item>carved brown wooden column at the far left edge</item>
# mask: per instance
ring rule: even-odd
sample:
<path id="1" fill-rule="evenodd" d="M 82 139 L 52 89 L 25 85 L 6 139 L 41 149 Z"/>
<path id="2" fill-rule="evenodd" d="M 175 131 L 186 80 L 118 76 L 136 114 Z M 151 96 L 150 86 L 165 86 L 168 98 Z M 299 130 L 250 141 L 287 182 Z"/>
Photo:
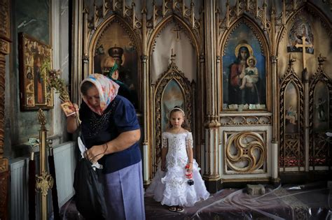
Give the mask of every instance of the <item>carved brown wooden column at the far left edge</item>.
<path id="1" fill-rule="evenodd" d="M 0 219 L 8 219 L 8 159 L 4 158 L 5 55 L 9 54 L 9 1 L 0 0 Z"/>

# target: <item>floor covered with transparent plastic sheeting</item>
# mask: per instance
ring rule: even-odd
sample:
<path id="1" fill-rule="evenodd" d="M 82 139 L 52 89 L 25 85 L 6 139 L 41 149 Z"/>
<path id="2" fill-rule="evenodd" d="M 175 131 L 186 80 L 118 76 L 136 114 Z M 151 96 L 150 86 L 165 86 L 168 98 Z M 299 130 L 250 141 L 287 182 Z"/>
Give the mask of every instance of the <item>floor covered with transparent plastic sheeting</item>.
<path id="1" fill-rule="evenodd" d="M 248 195 L 245 189 L 223 189 L 207 200 L 170 212 L 168 207 L 145 198 L 146 219 L 332 219 L 332 189 L 326 182 L 265 186 L 265 194 Z M 83 219 L 74 200 L 61 208 L 62 219 Z"/>

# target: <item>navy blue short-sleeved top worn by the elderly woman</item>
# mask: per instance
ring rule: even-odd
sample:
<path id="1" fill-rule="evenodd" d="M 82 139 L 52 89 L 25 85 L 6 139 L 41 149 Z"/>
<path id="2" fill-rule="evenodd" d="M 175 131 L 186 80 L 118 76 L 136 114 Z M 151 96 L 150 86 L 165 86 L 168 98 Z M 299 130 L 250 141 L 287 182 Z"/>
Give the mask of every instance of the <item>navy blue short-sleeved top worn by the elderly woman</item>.
<path id="1" fill-rule="evenodd" d="M 88 149 L 109 142 L 125 131 L 139 129 L 134 106 L 123 96 L 116 96 L 101 116 L 92 112 L 84 101 L 79 113 L 82 121 L 81 137 Z M 113 173 L 139 161 L 141 152 L 136 142 L 121 152 L 106 154 L 98 162 L 104 166 L 103 173 Z"/>

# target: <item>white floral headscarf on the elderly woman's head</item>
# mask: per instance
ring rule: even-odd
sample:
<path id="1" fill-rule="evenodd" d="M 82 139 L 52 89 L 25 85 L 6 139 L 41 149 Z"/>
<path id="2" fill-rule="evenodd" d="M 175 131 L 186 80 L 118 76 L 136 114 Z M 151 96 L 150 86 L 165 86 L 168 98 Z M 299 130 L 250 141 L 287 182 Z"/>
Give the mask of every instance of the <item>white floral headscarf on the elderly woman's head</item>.
<path id="1" fill-rule="evenodd" d="M 107 106 L 109 106 L 109 103 L 111 103 L 111 101 L 113 101 L 113 99 L 118 94 L 119 85 L 107 78 L 105 75 L 99 73 L 89 75 L 88 78 L 85 78 L 85 80 L 81 82 L 80 87 L 82 87 L 84 82 L 92 82 L 92 84 L 95 85 L 95 87 L 98 89 L 100 110 L 93 108 L 92 105 L 90 105 L 88 102 L 88 99 L 83 94 L 81 94 L 83 101 L 93 112 L 96 112 L 98 115 L 102 115 Z"/>

